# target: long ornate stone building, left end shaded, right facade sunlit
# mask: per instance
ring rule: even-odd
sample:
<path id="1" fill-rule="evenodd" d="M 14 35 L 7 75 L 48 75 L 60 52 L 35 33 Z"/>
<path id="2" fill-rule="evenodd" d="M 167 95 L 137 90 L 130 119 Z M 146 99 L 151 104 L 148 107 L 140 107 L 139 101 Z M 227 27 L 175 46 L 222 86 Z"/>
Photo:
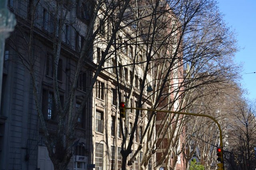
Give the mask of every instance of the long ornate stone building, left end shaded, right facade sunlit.
<path id="1" fill-rule="evenodd" d="M 52 56 L 56 54 L 56 51 L 53 49 L 54 42 L 52 40 L 54 37 L 62 40 L 57 79 L 60 102 L 64 103 L 69 97 L 68 92 L 72 85 L 72 76 L 74 76 L 78 56 L 82 51 L 83 35 L 89 22 L 88 13 L 91 9 L 87 4 L 78 0 L 74 2 L 74 8 L 66 7 L 64 10 L 67 20 L 62 27 L 63 34 L 59 37 L 59 34 L 55 34 L 58 27 L 56 27 L 55 16 L 52 12 L 54 10 L 52 7 L 56 4 L 54 2 L 52 2 L 54 5 L 48 4 L 51 1 L 44 0 L 36 1 L 37 3 L 33 2 L 35 1 L 8 1 L 8 7 L 16 15 L 18 24 L 14 33 L 6 40 L 5 46 L 0 113 L 1 170 L 53 169 L 38 116 L 33 83 L 36 83 L 36 89 L 39 92 L 38 99 L 40 99 L 46 127 L 49 133 L 54 134 L 60 118 L 54 101 L 53 69 L 55 61 Z M 70 1 L 65 1 L 67 6 L 68 2 Z M 34 23 L 30 20 L 32 10 L 35 12 Z M 30 32 L 32 26 L 33 32 Z M 104 37 L 106 31 L 107 25 L 102 24 L 99 30 L 101 38 L 107 38 L 107 36 Z M 32 36 L 34 40 L 31 46 L 28 46 L 27 42 Z M 125 40 L 122 33 L 119 36 L 120 40 Z M 33 49 L 30 50 L 30 47 Z M 74 113 L 80 108 L 84 96 L 88 93 L 87 88 L 95 75 L 95 68 L 101 62 L 105 48 L 105 43 L 95 42 L 91 52 L 86 54 L 86 64 L 82 67 L 77 83 L 75 83 L 77 88 L 72 111 Z M 137 53 L 140 56 L 139 60 L 143 61 L 143 51 L 142 48 L 137 53 L 135 47 L 130 43 L 130 45 L 125 45 L 120 49 L 119 57 L 109 57 L 102 65 L 103 69 L 97 77 L 82 114 L 78 115 L 77 118 L 76 140 L 72 145 L 74 152 L 68 164 L 69 170 L 87 170 L 93 168 L 94 164 L 96 170 L 119 170 L 121 168 L 120 150 L 123 139 L 121 128 L 127 128 L 129 133 L 134 126 L 136 113 L 133 110 L 127 111 L 129 115 L 124 122 L 124 119 L 119 116 L 118 98 L 129 103 L 129 106 L 136 106 L 138 105 L 138 94 L 140 91 L 144 91 L 143 107 L 149 108 L 151 105 L 150 101 L 147 101 L 146 87 L 141 85 L 142 66 L 137 66 L 136 73 L 134 73 L 133 67 L 129 66 L 130 59 L 127 59 Z M 31 56 L 36 59 L 32 60 Z M 22 59 L 22 57 L 24 58 Z M 22 61 L 34 62 L 32 65 L 36 68 L 34 70 L 36 82 L 33 82 L 30 75 L 31 70 L 28 70 L 26 63 Z M 119 75 L 119 81 L 116 75 Z M 148 75 L 148 79 L 150 79 L 150 75 Z M 127 89 L 130 87 L 134 87 L 134 91 L 128 98 Z M 142 133 L 148 121 L 147 118 L 146 113 L 140 113 L 132 152 L 140 144 Z M 123 126 L 120 126 L 122 123 Z M 127 124 L 128 126 L 126 126 Z M 143 153 L 146 152 L 145 149 L 140 150 L 140 154 L 134 164 L 130 166 L 130 170 L 139 169 Z M 148 167 L 151 169 L 151 164 Z"/>

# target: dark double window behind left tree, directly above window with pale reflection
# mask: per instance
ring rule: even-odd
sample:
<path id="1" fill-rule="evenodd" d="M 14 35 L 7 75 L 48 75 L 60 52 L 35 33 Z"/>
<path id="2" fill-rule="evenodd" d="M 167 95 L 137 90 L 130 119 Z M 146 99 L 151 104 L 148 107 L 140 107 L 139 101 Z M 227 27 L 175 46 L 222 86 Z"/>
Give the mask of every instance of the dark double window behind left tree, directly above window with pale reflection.
<path id="1" fill-rule="evenodd" d="M 53 77 L 53 73 L 54 73 L 53 56 L 48 53 L 46 56 L 46 75 L 49 77 Z M 58 61 L 57 79 L 59 81 L 62 81 L 62 59 L 59 59 Z"/>

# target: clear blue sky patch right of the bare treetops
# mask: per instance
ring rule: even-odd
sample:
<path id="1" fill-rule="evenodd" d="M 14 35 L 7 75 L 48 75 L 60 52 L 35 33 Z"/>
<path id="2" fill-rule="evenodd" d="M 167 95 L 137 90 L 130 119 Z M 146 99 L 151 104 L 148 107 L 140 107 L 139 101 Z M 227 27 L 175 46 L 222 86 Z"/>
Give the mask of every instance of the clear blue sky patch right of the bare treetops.
<path id="1" fill-rule="evenodd" d="M 219 10 L 228 26 L 237 33 L 236 63 L 243 64 L 242 87 L 249 99 L 256 99 L 256 0 L 217 0 Z M 250 74 L 248 74 L 250 73 Z"/>

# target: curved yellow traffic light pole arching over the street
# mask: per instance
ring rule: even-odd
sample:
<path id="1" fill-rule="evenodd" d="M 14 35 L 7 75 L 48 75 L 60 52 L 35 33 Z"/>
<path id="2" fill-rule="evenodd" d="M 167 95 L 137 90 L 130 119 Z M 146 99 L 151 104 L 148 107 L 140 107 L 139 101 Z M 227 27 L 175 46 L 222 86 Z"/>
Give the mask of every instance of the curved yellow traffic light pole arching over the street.
<path id="1" fill-rule="evenodd" d="M 212 119 L 218 126 L 219 128 L 219 132 L 220 132 L 220 148 L 223 149 L 223 142 L 222 142 L 222 131 L 220 128 L 220 124 L 218 123 L 218 121 L 210 116 L 210 115 L 202 115 L 202 114 L 198 114 L 198 113 L 187 113 L 187 112 L 175 112 L 175 111 L 162 111 L 162 110 L 154 110 L 154 109 L 142 109 L 142 108 L 136 108 L 136 107 L 126 107 L 125 109 L 134 109 L 134 110 L 143 110 L 143 111 L 155 111 L 155 112 L 162 112 L 162 113 L 174 113 L 174 114 L 180 114 L 180 115 L 192 115 L 192 116 L 200 116 L 200 117 L 208 117 L 210 119 Z M 224 169 L 224 167 L 223 167 Z"/>

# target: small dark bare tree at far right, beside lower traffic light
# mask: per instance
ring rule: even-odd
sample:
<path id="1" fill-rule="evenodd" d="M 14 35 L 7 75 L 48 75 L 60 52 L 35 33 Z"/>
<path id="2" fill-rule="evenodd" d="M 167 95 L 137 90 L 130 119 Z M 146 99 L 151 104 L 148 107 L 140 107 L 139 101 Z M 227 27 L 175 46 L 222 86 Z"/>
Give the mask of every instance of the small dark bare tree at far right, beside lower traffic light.
<path id="1" fill-rule="evenodd" d="M 233 113 L 233 114 L 232 114 Z M 228 148 L 238 169 L 255 168 L 255 106 L 245 100 L 236 103 L 228 124 Z"/>

